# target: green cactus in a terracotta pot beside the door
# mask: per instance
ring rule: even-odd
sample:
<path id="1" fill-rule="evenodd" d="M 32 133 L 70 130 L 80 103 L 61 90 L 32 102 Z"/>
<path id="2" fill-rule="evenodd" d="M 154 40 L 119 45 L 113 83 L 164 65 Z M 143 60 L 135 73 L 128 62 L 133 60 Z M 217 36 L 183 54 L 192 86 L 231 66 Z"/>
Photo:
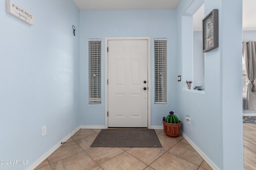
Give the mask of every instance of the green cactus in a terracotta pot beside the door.
<path id="1" fill-rule="evenodd" d="M 169 115 L 163 117 L 164 133 L 168 137 L 177 137 L 180 135 L 181 121 L 174 115 L 173 111 L 169 113 Z"/>

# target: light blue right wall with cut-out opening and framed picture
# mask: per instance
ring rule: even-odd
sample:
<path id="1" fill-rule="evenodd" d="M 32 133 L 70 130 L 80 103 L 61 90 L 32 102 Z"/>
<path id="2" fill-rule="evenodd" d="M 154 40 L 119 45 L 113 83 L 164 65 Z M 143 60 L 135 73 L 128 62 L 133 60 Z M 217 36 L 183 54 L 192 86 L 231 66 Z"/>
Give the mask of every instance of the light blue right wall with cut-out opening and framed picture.
<path id="1" fill-rule="evenodd" d="M 205 93 L 186 90 L 186 79 L 192 78 L 192 17 L 183 14 L 192 2 L 181 0 L 177 8 L 178 74 L 183 75 L 182 82 L 177 83 L 177 108 L 183 121 L 182 131 L 220 169 L 240 170 L 242 0 L 204 1 L 205 16 L 213 9 L 219 10 L 219 47 L 205 54 Z M 230 20 L 231 16 L 235 21 Z M 190 115 L 191 125 L 185 121 L 186 115 Z"/>

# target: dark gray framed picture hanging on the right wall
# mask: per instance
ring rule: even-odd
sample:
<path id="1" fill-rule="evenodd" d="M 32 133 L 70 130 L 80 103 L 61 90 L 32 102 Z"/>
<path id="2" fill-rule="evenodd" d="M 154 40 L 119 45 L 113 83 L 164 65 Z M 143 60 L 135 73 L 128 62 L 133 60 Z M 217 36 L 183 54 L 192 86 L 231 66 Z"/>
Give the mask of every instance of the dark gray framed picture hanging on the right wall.
<path id="1" fill-rule="evenodd" d="M 219 46 L 218 26 L 218 9 L 214 9 L 202 20 L 203 53 Z"/>

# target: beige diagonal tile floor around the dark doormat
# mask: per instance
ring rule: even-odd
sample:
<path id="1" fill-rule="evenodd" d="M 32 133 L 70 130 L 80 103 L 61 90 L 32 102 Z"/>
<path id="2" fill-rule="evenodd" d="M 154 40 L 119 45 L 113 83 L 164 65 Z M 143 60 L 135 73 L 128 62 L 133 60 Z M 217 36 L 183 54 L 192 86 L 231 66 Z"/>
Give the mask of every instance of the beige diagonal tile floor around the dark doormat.
<path id="1" fill-rule="evenodd" d="M 182 136 L 155 131 L 162 148 L 90 148 L 100 129 L 80 129 L 36 170 L 212 170 Z"/>

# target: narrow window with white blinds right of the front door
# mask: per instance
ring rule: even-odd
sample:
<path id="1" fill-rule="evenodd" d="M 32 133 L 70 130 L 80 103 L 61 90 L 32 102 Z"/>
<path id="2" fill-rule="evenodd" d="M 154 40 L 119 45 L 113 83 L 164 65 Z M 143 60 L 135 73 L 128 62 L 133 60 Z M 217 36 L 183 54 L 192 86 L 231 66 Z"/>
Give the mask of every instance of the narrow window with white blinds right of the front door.
<path id="1" fill-rule="evenodd" d="M 167 39 L 154 39 L 155 104 L 167 104 Z"/>

